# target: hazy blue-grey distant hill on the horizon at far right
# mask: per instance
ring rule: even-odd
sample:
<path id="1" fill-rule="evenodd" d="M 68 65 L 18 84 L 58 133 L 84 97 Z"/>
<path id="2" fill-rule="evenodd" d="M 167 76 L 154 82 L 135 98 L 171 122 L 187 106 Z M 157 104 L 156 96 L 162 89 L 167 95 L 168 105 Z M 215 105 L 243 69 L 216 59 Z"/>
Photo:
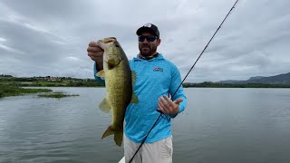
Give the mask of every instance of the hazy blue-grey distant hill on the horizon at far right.
<path id="1" fill-rule="evenodd" d="M 275 76 L 256 76 L 251 77 L 247 81 L 220 81 L 220 83 L 270 83 L 270 84 L 290 84 L 290 72 L 278 74 Z"/>

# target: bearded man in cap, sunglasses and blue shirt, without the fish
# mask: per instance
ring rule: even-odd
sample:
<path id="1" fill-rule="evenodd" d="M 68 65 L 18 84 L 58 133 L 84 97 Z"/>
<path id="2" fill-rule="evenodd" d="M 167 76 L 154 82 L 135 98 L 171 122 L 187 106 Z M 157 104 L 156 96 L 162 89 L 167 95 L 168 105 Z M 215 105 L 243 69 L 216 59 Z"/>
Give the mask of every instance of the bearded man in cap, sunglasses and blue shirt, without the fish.
<path id="1" fill-rule="evenodd" d="M 179 88 L 181 77 L 178 68 L 157 52 L 157 47 L 161 43 L 158 27 L 154 24 L 145 24 L 137 30 L 136 34 L 139 36 L 140 53 L 130 61 L 130 66 L 131 71 L 137 73 L 133 91 L 139 103 L 130 104 L 125 113 L 125 161 L 130 161 L 142 140 L 145 139 L 160 116 L 156 110 L 159 109 L 164 115 L 150 131 L 150 135 L 132 162 L 169 163 L 172 162 L 173 153 L 170 120 L 185 110 L 187 98 L 182 86 Z M 94 71 L 101 71 L 103 54 L 101 47 L 92 41 L 87 52 L 95 61 Z M 96 80 L 103 82 L 98 77 Z M 173 96 L 173 101 L 168 95 Z"/>

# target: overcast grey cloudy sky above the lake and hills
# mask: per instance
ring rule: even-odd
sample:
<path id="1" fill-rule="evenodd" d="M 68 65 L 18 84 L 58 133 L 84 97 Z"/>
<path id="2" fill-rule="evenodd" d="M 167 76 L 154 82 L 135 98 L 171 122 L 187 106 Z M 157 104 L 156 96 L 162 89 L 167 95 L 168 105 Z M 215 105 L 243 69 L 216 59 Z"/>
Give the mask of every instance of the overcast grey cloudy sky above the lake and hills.
<path id="1" fill-rule="evenodd" d="M 159 53 L 182 78 L 236 0 L 1 0 L 0 74 L 93 78 L 86 49 L 114 36 L 129 59 L 136 30 L 160 28 Z M 239 0 L 186 82 L 290 72 L 290 1 Z"/>

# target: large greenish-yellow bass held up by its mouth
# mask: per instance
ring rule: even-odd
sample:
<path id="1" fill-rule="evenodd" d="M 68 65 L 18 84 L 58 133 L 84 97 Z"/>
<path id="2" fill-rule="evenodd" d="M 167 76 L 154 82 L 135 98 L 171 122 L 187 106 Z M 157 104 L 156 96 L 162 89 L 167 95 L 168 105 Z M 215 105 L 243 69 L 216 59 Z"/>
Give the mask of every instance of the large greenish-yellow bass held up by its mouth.
<path id="1" fill-rule="evenodd" d="M 130 103 L 138 102 L 132 91 L 136 74 L 131 72 L 128 58 L 116 38 L 104 38 L 97 43 L 104 53 L 103 70 L 96 75 L 104 78 L 106 85 L 106 95 L 99 107 L 103 111 L 111 111 L 111 125 L 103 133 L 102 139 L 114 134 L 116 145 L 121 146 L 126 108 Z"/>

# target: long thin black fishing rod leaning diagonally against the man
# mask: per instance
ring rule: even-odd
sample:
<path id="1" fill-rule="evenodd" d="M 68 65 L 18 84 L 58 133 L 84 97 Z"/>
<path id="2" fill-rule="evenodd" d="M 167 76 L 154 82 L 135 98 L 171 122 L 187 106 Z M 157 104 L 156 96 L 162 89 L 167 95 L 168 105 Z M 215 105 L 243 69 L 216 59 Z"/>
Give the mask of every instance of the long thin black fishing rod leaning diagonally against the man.
<path id="1" fill-rule="evenodd" d="M 196 62 L 194 62 L 194 64 L 191 66 L 191 68 L 189 69 L 189 72 L 187 73 L 187 75 L 184 77 L 184 79 L 182 80 L 182 82 L 179 84 L 178 89 L 173 93 L 173 95 L 171 96 L 171 100 L 173 99 L 174 95 L 177 93 L 177 91 L 179 91 L 179 88 L 181 87 L 182 83 L 187 79 L 187 77 L 189 76 L 189 73 L 192 71 L 192 69 L 194 68 L 194 66 L 196 65 L 196 63 L 198 62 L 199 58 L 201 57 L 201 55 L 206 51 L 206 49 L 208 48 L 208 44 L 212 41 L 212 39 L 215 37 L 215 35 L 218 33 L 218 30 L 220 29 L 221 25 L 224 24 L 224 22 L 227 19 L 227 16 L 232 12 L 232 10 L 235 8 L 235 5 L 237 5 L 238 0 L 235 2 L 235 4 L 230 8 L 229 12 L 227 13 L 226 17 L 224 18 L 224 20 L 221 22 L 221 24 L 219 24 L 218 29 L 216 30 L 215 34 L 213 34 L 210 38 L 210 40 L 208 41 L 207 45 L 205 46 L 205 48 L 203 49 L 203 51 L 199 54 L 198 59 Z M 158 120 L 160 120 L 160 117 L 164 114 L 162 111 L 157 110 L 158 112 L 160 112 L 160 116 L 158 117 L 158 119 L 154 122 L 152 128 L 149 130 L 149 132 L 147 133 L 146 137 L 142 140 L 139 148 L 136 150 L 135 154 L 133 155 L 133 157 L 130 159 L 129 163 L 131 163 L 131 161 L 133 160 L 133 158 L 136 156 L 137 152 L 139 151 L 139 149 L 141 148 L 141 146 L 145 143 L 145 140 L 147 139 L 147 137 L 149 136 L 151 130 L 155 127 L 156 123 L 158 122 Z"/>

